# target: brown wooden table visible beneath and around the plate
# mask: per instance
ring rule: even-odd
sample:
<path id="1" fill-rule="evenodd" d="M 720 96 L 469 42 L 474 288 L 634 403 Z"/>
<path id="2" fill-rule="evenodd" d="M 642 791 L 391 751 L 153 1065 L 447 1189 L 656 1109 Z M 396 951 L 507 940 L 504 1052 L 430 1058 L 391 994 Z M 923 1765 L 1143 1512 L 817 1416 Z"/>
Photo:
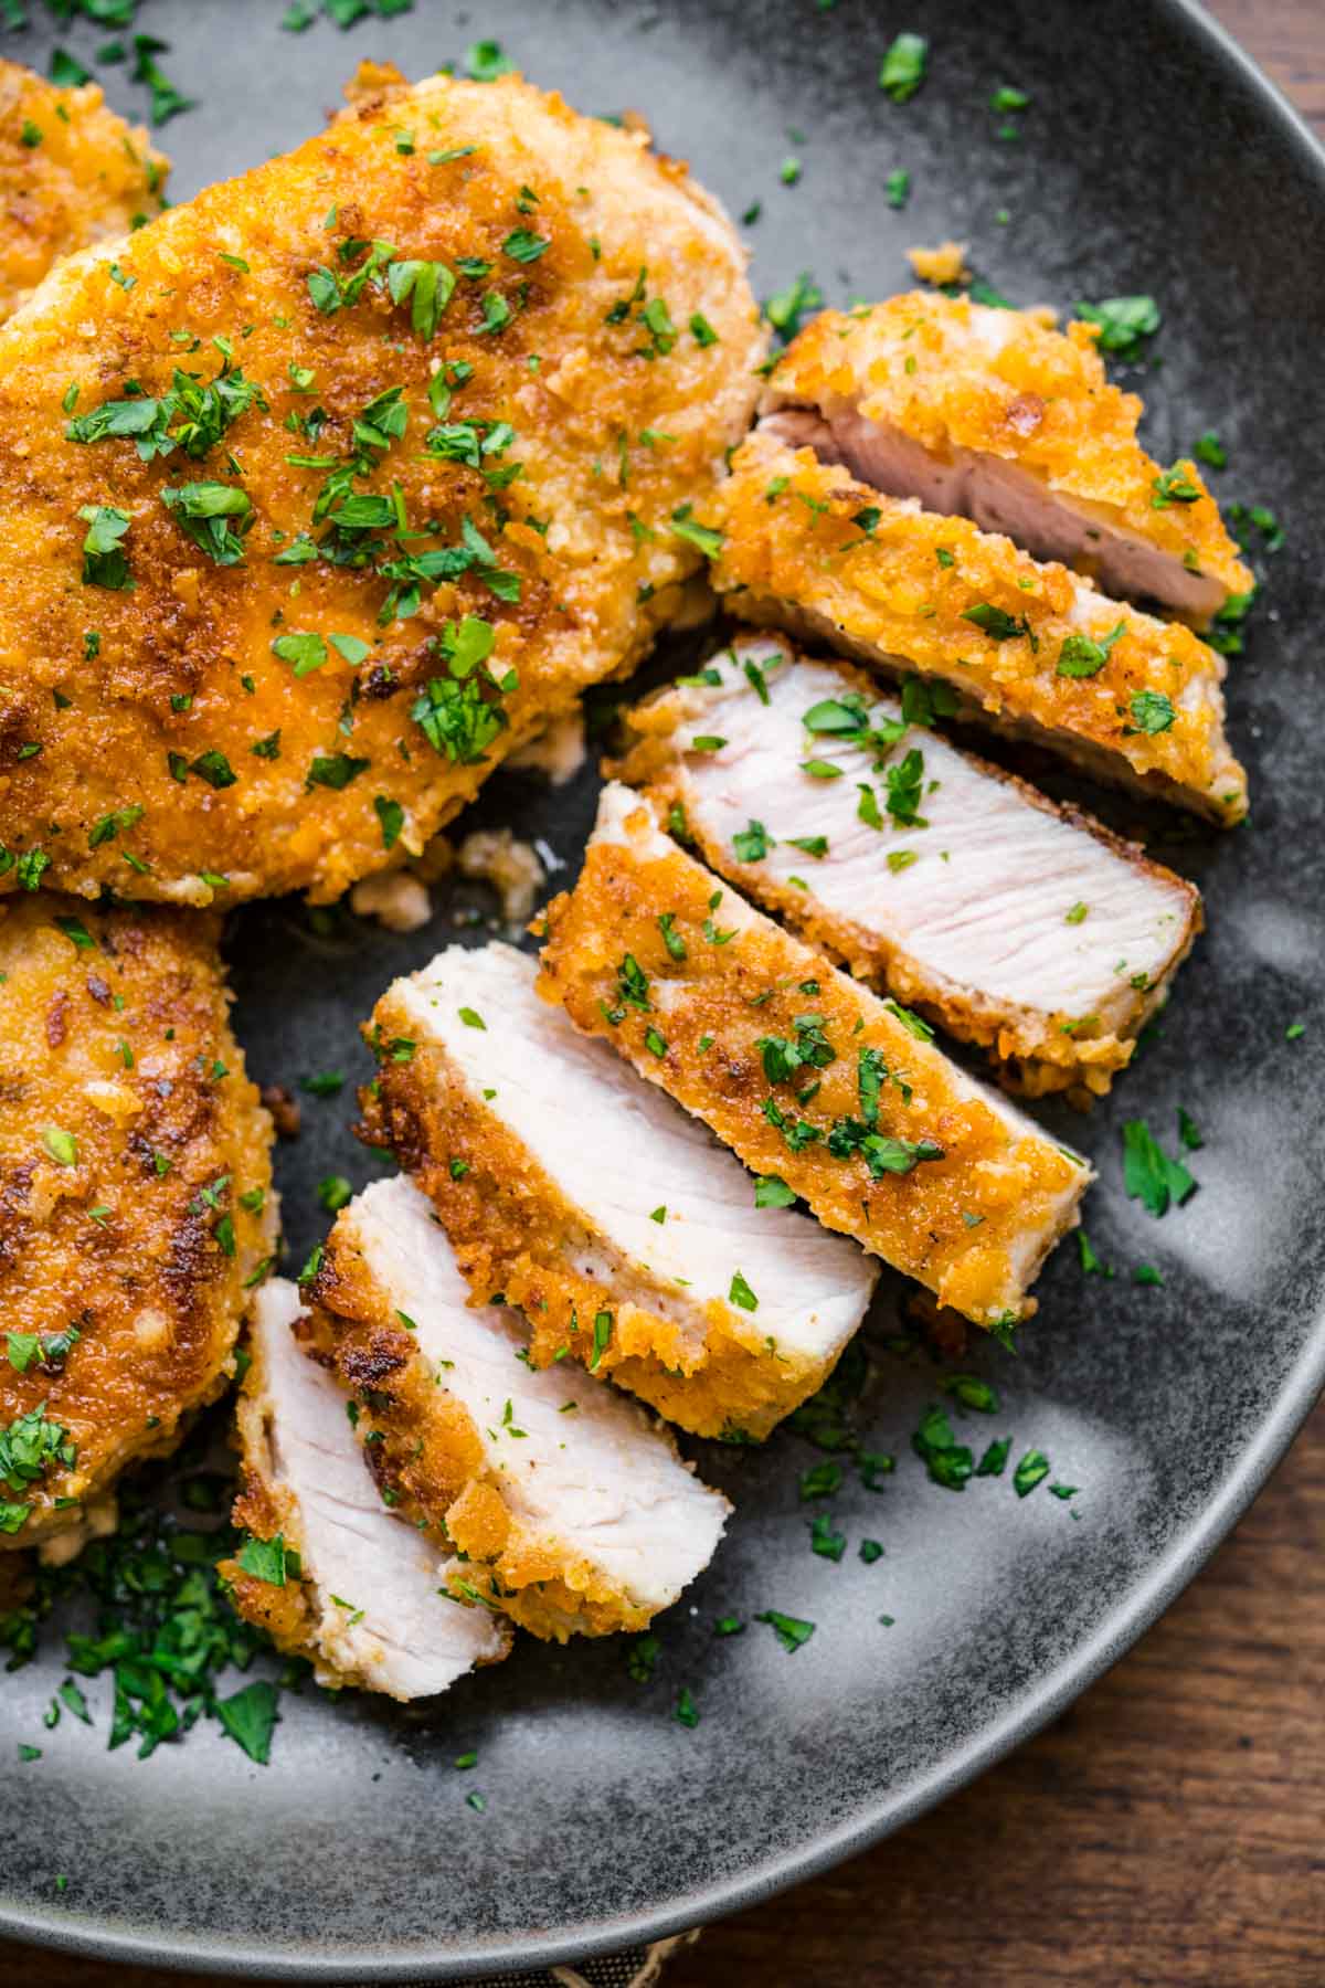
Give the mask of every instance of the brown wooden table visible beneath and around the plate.
<path id="1" fill-rule="evenodd" d="M 1325 0 L 1210 0 L 1325 133 Z M 1321 1988 L 1325 1404 L 1158 1628 L 1049 1732 L 663 1988 Z M 185 1988 L 0 1940 L 24 1988 Z"/>

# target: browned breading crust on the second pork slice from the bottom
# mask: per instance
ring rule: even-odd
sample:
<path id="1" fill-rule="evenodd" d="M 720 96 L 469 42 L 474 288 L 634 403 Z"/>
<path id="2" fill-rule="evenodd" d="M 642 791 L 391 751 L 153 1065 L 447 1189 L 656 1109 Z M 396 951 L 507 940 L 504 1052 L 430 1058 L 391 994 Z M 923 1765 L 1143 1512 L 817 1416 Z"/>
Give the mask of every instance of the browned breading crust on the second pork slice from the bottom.
<path id="1" fill-rule="evenodd" d="M 550 1642 L 648 1626 L 654 1608 L 520 1519 L 469 1409 L 421 1356 L 366 1262 L 352 1209 L 338 1215 L 306 1296 L 308 1344 L 362 1406 L 356 1433 L 377 1485 L 401 1517 L 469 1563 L 447 1573 L 457 1598 Z"/>

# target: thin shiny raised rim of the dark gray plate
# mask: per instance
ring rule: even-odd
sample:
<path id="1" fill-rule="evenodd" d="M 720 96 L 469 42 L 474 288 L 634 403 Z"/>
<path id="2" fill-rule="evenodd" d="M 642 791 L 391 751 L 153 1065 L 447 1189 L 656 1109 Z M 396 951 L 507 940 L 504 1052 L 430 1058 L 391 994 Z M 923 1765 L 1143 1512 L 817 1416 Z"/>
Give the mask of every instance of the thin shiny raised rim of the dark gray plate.
<path id="1" fill-rule="evenodd" d="M 1325 141 L 1321 141 L 1301 111 L 1261 70 L 1236 36 L 1218 22 L 1202 0 L 1152 0 L 1158 16 L 1206 44 L 1206 56 L 1250 91 L 1257 109 L 1297 151 L 1307 175 L 1315 177 L 1325 207 Z M 1085 1690 L 1099 1682 L 1152 1628 L 1166 1608 L 1196 1578 L 1214 1551 L 1228 1539 L 1238 1521 L 1265 1487 L 1287 1455 L 1293 1439 L 1325 1392 L 1325 1308 L 1317 1314 L 1293 1366 L 1283 1376 L 1277 1398 L 1253 1441 L 1220 1491 L 1188 1529 L 1172 1541 L 1146 1576 L 1132 1586 L 1097 1626 L 1097 1630 L 1065 1658 L 1047 1678 L 1035 1680 L 1017 1704 L 956 1753 L 950 1753 L 928 1775 L 914 1781 L 902 1797 L 886 1791 L 866 1809 L 826 1833 L 765 1857 L 747 1871 L 719 1879 L 701 1891 L 689 1891 L 667 1905 L 650 1910 L 624 1912 L 616 1920 L 598 1922 L 578 1934 L 564 1930 L 528 1938 L 503 1938 L 473 1946 L 467 1954 L 397 1954 L 383 1956 L 379 1948 L 344 1948 L 326 1954 L 294 1954 L 260 1944 L 234 1940 L 209 1942 L 197 1934 L 151 1936 L 137 1930 L 117 1930 L 93 1918 L 77 1920 L 66 1908 L 14 1906 L 0 1899 L 0 1934 L 26 1940 L 50 1952 L 79 1954 L 109 1962 L 133 1962 L 147 1968 L 175 1968 L 193 1974 L 219 1974 L 234 1980 L 264 1978 L 270 1982 L 346 1982 L 362 1988 L 377 1982 L 479 1982 L 511 1970 L 564 1966 L 598 1960 L 632 1946 L 648 1946 L 693 1926 L 749 1910 L 767 1899 L 809 1883 L 850 1857 L 918 1821 L 950 1795 L 967 1787 L 989 1767 L 995 1767 L 1025 1740 L 1043 1732 Z"/>

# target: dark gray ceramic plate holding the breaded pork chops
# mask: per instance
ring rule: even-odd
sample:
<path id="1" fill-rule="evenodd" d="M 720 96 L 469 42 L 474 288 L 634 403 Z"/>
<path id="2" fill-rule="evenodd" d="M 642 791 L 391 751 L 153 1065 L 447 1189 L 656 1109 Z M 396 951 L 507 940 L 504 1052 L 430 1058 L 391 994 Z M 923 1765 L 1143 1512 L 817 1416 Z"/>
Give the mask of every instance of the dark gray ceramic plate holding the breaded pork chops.
<path id="1" fill-rule="evenodd" d="M 524 1642 L 423 1716 L 288 1698 L 266 1769 L 215 1728 L 139 1765 L 66 1720 L 40 1765 L 14 1771 L 16 1740 L 34 1736 L 62 1676 L 58 1644 L 6 1678 L 6 1930 L 308 1980 L 455 1980 L 727 1912 L 918 1815 L 1126 1648 L 1317 1394 L 1325 1131 L 1303 1105 L 1325 1087 L 1325 674 L 1309 543 L 1325 161 L 1176 0 L 485 0 L 477 16 L 417 0 L 346 36 L 322 22 L 298 38 L 280 32 L 282 12 L 284 0 L 143 6 L 139 26 L 173 44 L 161 60 L 201 99 L 167 133 L 177 195 L 310 133 L 360 56 L 423 74 L 495 36 L 584 109 L 646 111 L 735 213 L 763 201 L 751 229 L 763 294 L 803 268 L 832 300 L 886 294 L 908 280 L 908 243 L 948 235 L 1021 302 L 1154 292 L 1162 364 L 1140 382 L 1154 453 L 1170 459 L 1216 425 L 1232 459 L 1220 493 L 1271 505 L 1289 533 L 1273 559 L 1257 551 L 1269 606 L 1232 670 L 1255 821 L 1170 849 L 1206 889 L 1210 932 L 1114 1099 L 1085 1129 L 1047 1113 L 1101 1163 L 1089 1229 L 1118 1276 L 1085 1280 L 1061 1250 L 1023 1356 L 977 1356 L 1003 1396 L 979 1435 L 1045 1449 L 1081 1487 L 1075 1501 L 1045 1487 L 1019 1501 L 1007 1477 L 959 1497 L 928 1483 L 906 1437 L 936 1398 L 934 1370 L 880 1352 L 860 1415 L 872 1447 L 898 1451 L 898 1473 L 882 1493 L 848 1473 L 830 1505 L 846 1559 L 809 1551 L 797 1473 L 816 1451 L 801 1437 L 709 1449 L 703 1467 L 737 1519 L 662 1622 L 652 1686 L 630 1680 L 620 1644 Z M 932 42 L 930 82 L 906 107 L 876 87 L 900 28 Z M 42 62 L 52 40 L 42 16 L 8 50 Z M 89 54 L 103 36 L 66 40 Z M 121 107 L 141 101 L 123 70 L 103 74 Z M 1019 139 L 995 135 L 999 83 L 1033 95 Z M 779 183 L 789 153 L 805 167 L 795 187 Z M 902 215 L 884 201 L 894 167 L 914 183 Z M 590 773 L 562 795 L 505 777 L 479 813 L 542 835 L 574 871 L 592 789 Z M 358 1018 L 453 936 L 453 909 L 409 940 L 352 920 L 316 934 L 296 905 L 238 918 L 230 956 L 256 1072 L 358 1074 Z M 1297 1020 L 1305 1034 L 1285 1040 Z M 1124 1199 L 1118 1127 L 1144 1113 L 1172 1135 L 1178 1103 L 1206 1139 L 1200 1193 L 1156 1223 Z M 320 1231 L 314 1181 L 366 1177 L 344 1101 L 310 1101 L 304 1117 L 304 1139 L 280 1155 L 296 1262 Z M 1162 1288 L 1130 1282 L 1142 1260 Z M 888 1330 L 884 1316 L 876 1338 Z M 864 1535 L 886 1547 L 876 1565 L 856 1555 Z M 789 1656 L 751 1620 L 767 1608 L 812 1618 L 814 1640 Z M 751 1622 L 745 1634 L 713 1636 L 725 1612 Z M 671 1718 L 681 1684 L 695 1730 Z M 471 1747 L 477 1775 L 455 1773 Z M 483 1815 L 463 1799 L 475 1781 Z M 56 1871 L 70 1873 L 60 1899 Z"/>

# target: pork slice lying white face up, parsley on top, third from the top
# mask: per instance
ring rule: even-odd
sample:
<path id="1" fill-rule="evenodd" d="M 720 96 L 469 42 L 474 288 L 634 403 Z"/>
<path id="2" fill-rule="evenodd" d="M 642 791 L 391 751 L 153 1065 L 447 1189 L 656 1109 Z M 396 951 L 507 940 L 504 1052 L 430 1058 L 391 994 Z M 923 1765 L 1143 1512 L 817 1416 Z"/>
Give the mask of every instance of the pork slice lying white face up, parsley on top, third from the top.
<path id="1" fill-rule="evenodd" d="M 705 863 L 1031 1093 L 1108 1089 L 1200 930 L 1200 893 L 957 751 L 932 692 L 743 636 L 628 724 L 622 777 Z M 699 744 L 695 744 L 699 742 Z"/>

